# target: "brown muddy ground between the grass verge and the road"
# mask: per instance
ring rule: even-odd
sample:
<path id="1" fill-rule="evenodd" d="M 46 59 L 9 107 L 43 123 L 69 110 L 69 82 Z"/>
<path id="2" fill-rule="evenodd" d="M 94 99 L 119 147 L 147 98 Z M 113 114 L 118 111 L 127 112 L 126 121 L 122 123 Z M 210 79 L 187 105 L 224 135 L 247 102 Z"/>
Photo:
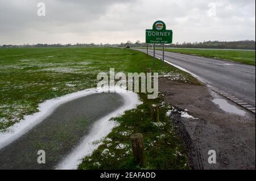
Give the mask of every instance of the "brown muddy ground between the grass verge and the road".
<path id="1" fill-rule="evenodd" d="M 178 111 L 187 109 L 189 115 L 198 118 L 188 119 L 179 112 L 171 113 L 192 169 L 255 169 L 254 113 L 244 110 L 245 115 L 236 115 L 221 110 L 212 102 L 213 93 L 203 85 L 161 78 L 159 91 Z M 216 164 L 208 163 L 209 150 L 216 151 Z"/>

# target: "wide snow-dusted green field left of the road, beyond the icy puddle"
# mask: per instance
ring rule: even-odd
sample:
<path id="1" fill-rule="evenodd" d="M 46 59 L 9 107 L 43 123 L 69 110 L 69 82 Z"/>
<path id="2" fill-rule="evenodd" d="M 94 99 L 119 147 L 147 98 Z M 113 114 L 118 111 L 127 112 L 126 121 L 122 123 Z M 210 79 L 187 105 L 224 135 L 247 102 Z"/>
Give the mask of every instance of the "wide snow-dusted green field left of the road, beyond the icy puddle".
<path id="1" fill-rule="evenodd" d="M 79 90 L 96 87 L 97 74 L 115 71 L 144 72 L 152 59 L 120 48 L 9 48 L 0 49 L 0 131 L 38 111 L 38 104 Z M 156 61 L 152 71 L 181 74 Z M 182 81 L 182 80 L 181 80 Z"/>

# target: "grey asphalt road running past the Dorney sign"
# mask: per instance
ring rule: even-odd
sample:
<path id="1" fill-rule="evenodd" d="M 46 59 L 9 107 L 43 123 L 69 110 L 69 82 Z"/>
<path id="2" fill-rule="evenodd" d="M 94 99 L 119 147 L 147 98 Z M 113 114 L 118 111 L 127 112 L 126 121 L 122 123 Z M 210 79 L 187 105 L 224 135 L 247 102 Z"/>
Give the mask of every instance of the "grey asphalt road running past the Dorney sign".
<path id="1" fill-rule="evenodd" d="M 146 53 L 146 49 L 137 50 Z M 153 50 L 148 53 L 152 55 Z M 164 54 L 164 60 L 255 107 L 255 66 L 166 51 Z M 162 58 L 162 51 L 156 50 L 155 56 Z"/>

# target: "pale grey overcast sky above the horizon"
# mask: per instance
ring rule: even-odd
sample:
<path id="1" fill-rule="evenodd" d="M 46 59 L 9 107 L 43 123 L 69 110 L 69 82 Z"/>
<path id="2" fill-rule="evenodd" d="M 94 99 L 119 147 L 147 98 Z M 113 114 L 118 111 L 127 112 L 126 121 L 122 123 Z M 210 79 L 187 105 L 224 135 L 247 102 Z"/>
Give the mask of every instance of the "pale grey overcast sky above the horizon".
<path id="1" fill-rule="evenodd" d="M 156 20 L 174 43 L 255 40 L 255 0 L 0 0 L 0 45 L 144 42 Z"/>

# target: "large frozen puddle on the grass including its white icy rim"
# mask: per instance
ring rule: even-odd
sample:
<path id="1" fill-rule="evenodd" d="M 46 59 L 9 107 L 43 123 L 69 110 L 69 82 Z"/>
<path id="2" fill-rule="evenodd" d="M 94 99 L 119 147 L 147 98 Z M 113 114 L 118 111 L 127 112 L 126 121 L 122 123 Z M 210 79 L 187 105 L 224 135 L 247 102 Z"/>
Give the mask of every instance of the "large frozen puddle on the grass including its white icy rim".
<path id="1" fill-rule="evenodd" d="M 112 117 L 139 104 L 133 92 L 84 90 L 47 100 L 39 112 L 0 133 L 0 169 L 76 169 L 117 126 Z M 38 150 L 46 164 L 38 164 Z"/>

